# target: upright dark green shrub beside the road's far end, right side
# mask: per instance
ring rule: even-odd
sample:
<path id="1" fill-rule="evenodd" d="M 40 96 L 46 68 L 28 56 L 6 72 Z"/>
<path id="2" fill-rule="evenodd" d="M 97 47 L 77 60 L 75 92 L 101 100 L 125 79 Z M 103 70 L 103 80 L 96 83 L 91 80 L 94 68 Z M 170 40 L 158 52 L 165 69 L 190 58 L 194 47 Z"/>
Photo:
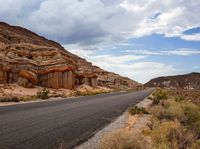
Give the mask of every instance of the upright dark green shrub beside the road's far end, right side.
<path id="1" fill-rule="evenodd" d="M 160 101 L 166 100 L 167 99 L 167 91 L 163 90 L 163 89 L 156 89 L 153 92 L 153 104 L 157 105 L 160 103 Z"/>

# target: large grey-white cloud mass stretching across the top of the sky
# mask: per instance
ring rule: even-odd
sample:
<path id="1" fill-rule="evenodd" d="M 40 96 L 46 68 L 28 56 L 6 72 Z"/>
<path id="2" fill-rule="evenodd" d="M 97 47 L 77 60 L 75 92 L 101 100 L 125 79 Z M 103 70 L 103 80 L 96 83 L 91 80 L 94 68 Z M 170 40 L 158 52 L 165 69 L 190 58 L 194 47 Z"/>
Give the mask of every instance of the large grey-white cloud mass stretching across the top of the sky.
<path id="1" fill-rule="evenodd" d="M 152 33 L 184 40 L 200 26 L 197 0 L 0 0 L 0 19 L 62 44 L 117 43 Z M 194 15 L 195 14 L 195 15 Z"/>

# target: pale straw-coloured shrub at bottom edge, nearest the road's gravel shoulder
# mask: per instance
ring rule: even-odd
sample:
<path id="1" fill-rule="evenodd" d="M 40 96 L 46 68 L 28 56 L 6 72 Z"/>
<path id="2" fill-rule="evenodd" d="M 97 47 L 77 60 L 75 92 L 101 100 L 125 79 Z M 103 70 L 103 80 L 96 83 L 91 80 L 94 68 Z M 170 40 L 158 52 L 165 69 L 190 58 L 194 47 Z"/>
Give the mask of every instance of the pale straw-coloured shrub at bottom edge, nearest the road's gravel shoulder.
<path id="1" fill-rule="evenodd" d="M 99 149 L 146 149 L 147 146 L 142 137 L 121 129 L 106 135 Z"/>

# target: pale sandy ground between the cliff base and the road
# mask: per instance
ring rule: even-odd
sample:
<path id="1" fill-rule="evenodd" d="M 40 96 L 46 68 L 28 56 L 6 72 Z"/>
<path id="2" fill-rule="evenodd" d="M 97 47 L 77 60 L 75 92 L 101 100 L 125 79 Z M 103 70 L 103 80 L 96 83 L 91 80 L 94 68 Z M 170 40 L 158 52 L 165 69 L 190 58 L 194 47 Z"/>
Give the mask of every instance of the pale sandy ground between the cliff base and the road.
<path id="1" fill-rule="evenodd" d="M 42 91 L 44 88 L 40 86 L 35 86 L 34 88 L 24 88 L 17 84 L 0 84 L 0 97 L 26 97 L 26 96 L 36 96 L 39 91 Z M 87 85 L 81 85 L 76 87 L 74 90 L 68 89 L 51 89 L 47 88 L 49 91 L 49 100 L 57 100 L 60 97 L 67 98 L 72 97 L 74 92 L 111 92 L 112 90 L 106 87 L 96 87 L 92 88 Z M 63 99 L 62 98 L 62 99 Z M 28 101 L 28 102 L 40 102 L 41 100 L 36 101 Z M 4 105 L 13 105 L 13 104 L 21 104 L 24 102 L 0 102 L 0 106 Z M 27 102 L 26 102 L 27 103 Z"/>

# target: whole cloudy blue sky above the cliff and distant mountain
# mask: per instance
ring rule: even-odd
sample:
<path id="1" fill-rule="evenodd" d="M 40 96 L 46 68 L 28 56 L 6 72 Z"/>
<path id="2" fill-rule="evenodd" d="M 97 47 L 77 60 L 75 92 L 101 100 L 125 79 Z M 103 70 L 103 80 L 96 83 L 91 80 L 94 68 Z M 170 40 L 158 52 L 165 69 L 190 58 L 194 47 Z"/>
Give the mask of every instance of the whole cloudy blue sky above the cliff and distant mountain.
<path id="1" fill-rule="evenodd" d="M 0 0 L 0 21 L 145 83 L 200 72 L 199 8 L 200 0 Z"/>

